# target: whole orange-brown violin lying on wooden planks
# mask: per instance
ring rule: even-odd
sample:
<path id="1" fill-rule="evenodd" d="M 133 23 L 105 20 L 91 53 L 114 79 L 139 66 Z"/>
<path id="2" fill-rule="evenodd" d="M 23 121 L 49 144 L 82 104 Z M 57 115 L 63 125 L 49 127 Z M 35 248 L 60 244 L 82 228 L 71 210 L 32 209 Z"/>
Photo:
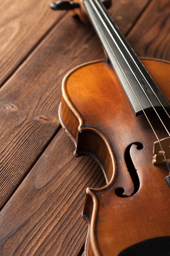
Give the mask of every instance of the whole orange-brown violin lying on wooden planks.
<path id="1" fill-rule="evenodd" d="M 170 62 L 135 54 L 106 7 L 52 3 L 91 21 L 106 54 L 63 79 L 60 122 L 102 168 L 106 186 L 86 189 L 85 256 L 170 255 Z"/>

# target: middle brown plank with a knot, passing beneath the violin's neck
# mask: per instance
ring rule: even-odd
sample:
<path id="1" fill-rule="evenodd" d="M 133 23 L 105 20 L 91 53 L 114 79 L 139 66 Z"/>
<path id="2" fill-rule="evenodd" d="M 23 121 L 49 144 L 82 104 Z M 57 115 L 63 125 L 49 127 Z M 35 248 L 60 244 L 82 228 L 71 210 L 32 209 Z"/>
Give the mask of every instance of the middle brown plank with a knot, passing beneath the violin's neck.
<path id="1" fill-rule="evenodd" d="M 114 4 L 111 13 L 124 33 L 147 2 Z M 93 29 L 66 15 L 0 89 L 1 207 L 57 132 L 66 72 L 103 56 Z"/>

